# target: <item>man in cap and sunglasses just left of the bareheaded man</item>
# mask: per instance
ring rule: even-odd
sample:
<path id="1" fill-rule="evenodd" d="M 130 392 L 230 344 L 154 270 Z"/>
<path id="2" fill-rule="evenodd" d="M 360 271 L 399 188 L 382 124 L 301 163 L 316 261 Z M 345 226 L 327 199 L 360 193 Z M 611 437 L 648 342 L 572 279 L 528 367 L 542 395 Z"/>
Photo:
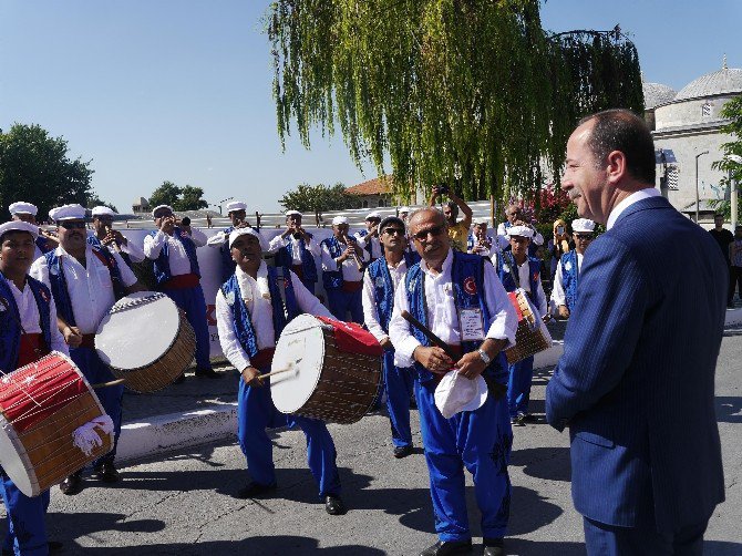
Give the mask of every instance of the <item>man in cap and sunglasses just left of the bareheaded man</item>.
<path id="1" fill-rule="evenodd" d="M 412 369 L 394 364 L 394 347 L 389 339 L 389 321 L 394 308 L 394 290 L 404 272 L 420 260 L 416 253 L 409 253 L 404 222 L 388 216 L 379 224 L 379 238 L 384 256 L 371 262 L 363 276 L 363 320 L 381 347 L 384 348 L 383 379 L 387 388 L 387 410 L 392 425 L 394 457 L 412 453 L 410 431 L 410 397 L 413 393 Z"/>

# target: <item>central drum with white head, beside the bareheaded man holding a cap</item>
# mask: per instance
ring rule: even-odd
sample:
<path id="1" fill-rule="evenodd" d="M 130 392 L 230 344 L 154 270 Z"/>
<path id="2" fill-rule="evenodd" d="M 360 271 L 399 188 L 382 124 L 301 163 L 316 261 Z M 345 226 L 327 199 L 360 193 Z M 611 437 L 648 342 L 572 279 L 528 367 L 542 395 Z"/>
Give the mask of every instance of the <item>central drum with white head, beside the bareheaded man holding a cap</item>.
<path id="1" fill-rule="evenodd" d="M 340 349 L 336 332 L 339 327 L 351 326 L 326 320 L 300 315 L 286 326 L 276 344 L 271 371 L 289 371 L 271 377 L 270 394 L 281 413 L 354 423 L 369 411 L 379 393 L 381 348 L 375 343 L 378 351 L 361 350 L 365 353 L 348 351 L 348 347 Z M 360 332 L 369 334 L 362 329 Z"/>

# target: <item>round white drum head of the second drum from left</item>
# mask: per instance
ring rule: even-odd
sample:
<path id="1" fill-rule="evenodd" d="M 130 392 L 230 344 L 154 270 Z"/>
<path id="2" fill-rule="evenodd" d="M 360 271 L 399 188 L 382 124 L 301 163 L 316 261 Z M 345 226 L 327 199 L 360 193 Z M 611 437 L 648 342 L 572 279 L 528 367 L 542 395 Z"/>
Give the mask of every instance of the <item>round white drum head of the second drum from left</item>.
<path id="1" fill-rule="evenodd" d="M 140 369 L 163 357 L 179 328 L 175 301 L 164 294 L 137 291 L 120 299 L 103 318 L 95 349 L 114 369 Z"/>

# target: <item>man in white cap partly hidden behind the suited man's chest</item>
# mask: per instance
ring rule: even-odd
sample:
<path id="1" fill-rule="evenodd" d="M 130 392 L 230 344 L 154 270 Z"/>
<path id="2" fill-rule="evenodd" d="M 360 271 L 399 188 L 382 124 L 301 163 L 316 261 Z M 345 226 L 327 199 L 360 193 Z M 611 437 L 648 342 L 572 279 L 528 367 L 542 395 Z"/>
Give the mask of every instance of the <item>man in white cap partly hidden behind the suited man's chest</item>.
<path id="1" fill-rule="evenodd" d="M 552 290 L 552 308 L 560 319 L 568 319 L 577 302 L 577 282 L 583 267 L 585 249 L 592 241 L 595 223 L 587 218 L 577 218 L 571 223 L 575 248 L 565 253 L 557 264 Z"/>

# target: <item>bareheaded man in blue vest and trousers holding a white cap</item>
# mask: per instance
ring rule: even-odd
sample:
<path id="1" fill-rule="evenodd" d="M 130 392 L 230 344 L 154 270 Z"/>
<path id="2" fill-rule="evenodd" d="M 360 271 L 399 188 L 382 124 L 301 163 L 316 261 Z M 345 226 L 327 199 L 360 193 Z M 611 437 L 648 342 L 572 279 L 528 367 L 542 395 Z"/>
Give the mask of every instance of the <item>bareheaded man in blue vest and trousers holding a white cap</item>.
<path id="1" fill-rule="evenodd" d="M 445 419 L 435 404 L 435 389 L 451 370 L 457 380 L 485 380 L 504 385 L 503 350 L 515 341 L 517 316 L 493 266 L 484 257 L 451 248 L 446 219 L 435 208 L 415 210 L 410 234 L 422 260 L 396 288 L 389 337 L 398 367 L 414 365 L 420 428 L 430 472 L 439 542 L 422 556 L 468 554 L 472 533 L 466 515 L 464 467 L 474 476 L 486 556 L 504 555 L 503 537 L 511 505 L 507 474 L 513 431 L 507 404 L 488 392 L 475 411 Z M 402 317 L 409 311 L 461 357 L 452 360 Z"/>

